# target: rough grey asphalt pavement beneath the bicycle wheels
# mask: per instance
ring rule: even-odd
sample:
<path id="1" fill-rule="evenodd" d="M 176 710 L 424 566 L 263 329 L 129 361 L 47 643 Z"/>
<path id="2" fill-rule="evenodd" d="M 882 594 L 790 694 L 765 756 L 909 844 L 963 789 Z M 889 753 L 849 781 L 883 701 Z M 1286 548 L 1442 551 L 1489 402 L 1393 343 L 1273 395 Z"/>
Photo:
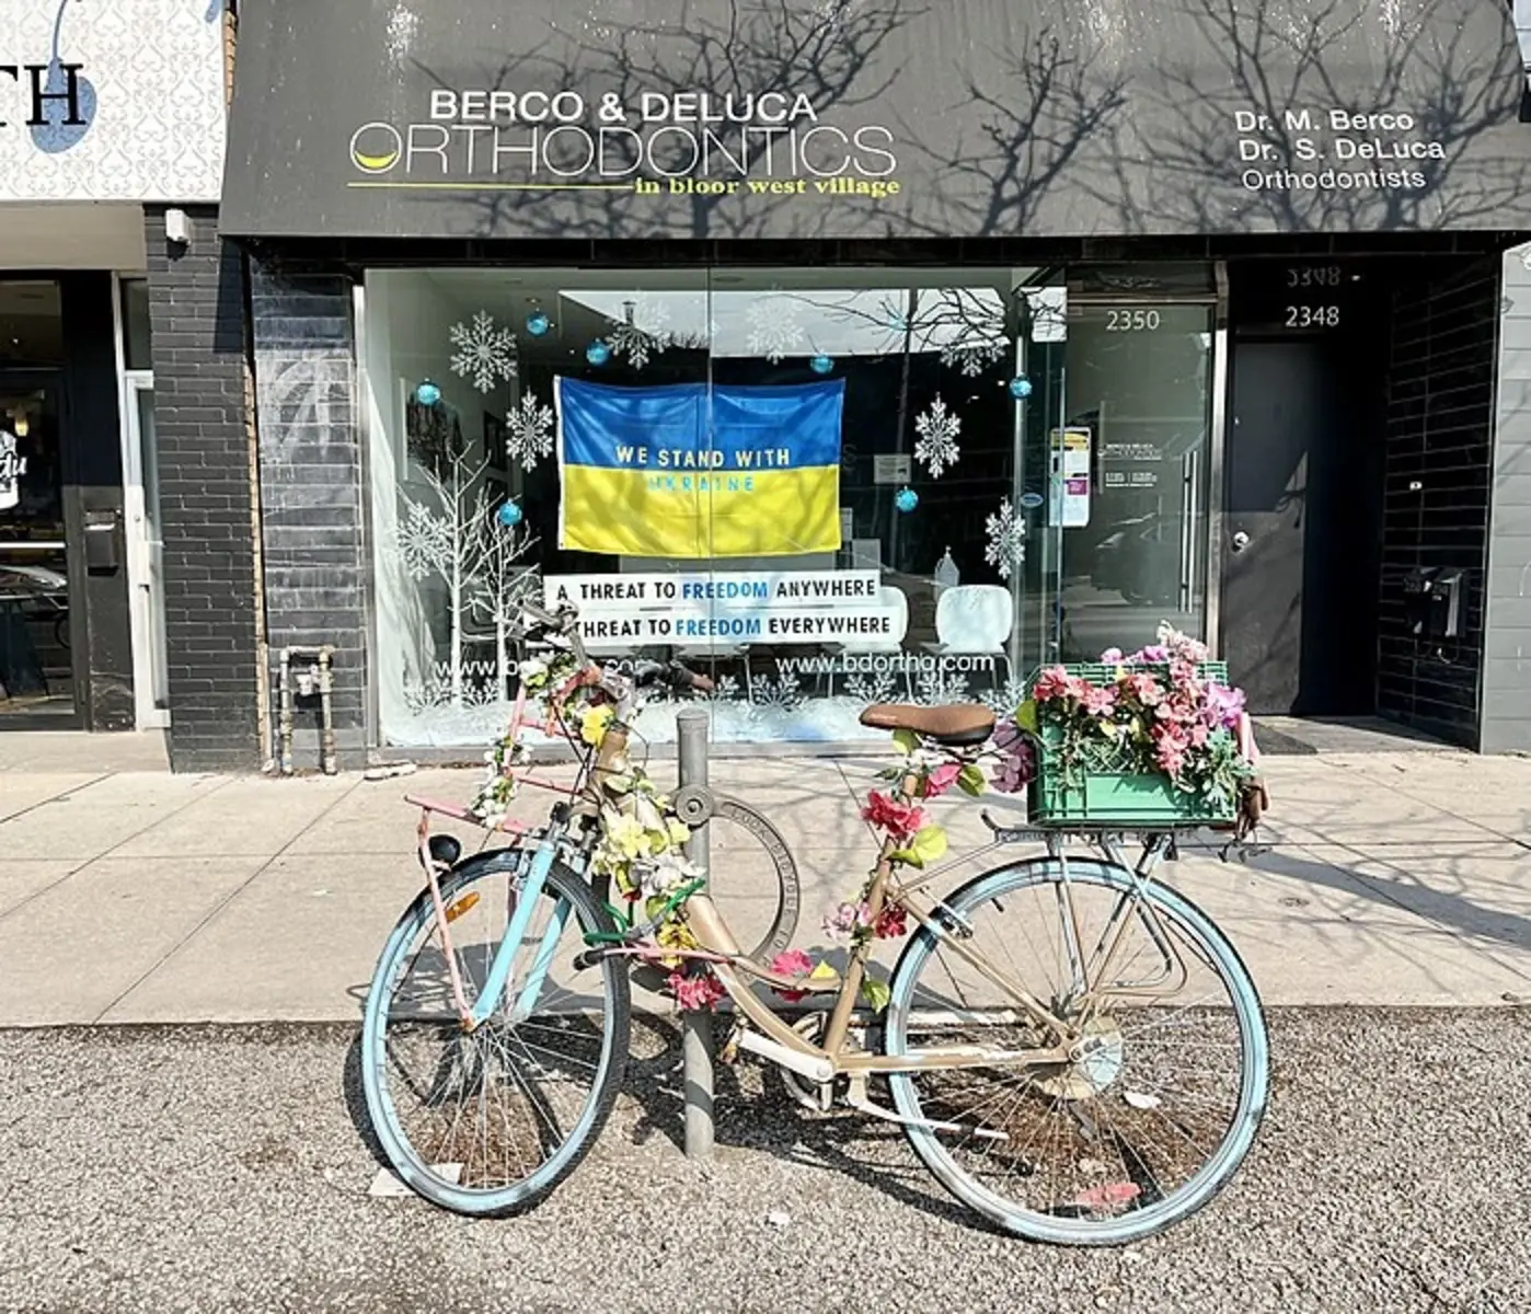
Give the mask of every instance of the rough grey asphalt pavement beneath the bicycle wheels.
<path id="1" fill-rule="evenodd" d="M 1245 1169 L 1191 1221 L 1116 1251 L 989 1231 L 896 1127 L 814 1118 L 753 1066 L 724 1070 L 718 1153 L 687 1161 L 678 1037 L 652 1018 L 591 1158 L 495 1222 L 367 1196 L 354 1028 L 0 1032 L 0 1309 L 1531 1306 L 1531 1011 L 1271 1021 L 1275 1081 Z"/>

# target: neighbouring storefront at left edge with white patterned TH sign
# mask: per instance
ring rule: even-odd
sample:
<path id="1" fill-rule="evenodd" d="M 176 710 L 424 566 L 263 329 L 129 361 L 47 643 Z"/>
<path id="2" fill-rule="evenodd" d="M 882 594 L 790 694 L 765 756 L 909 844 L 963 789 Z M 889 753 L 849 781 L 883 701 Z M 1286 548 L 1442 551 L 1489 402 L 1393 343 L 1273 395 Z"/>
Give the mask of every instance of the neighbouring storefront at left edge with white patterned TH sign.
<path id="1" fill-rule="evenodd" d="M 145 207 L 224 127 L 220 5 L 0 0 L 0 732 L 168 723 Z"/>

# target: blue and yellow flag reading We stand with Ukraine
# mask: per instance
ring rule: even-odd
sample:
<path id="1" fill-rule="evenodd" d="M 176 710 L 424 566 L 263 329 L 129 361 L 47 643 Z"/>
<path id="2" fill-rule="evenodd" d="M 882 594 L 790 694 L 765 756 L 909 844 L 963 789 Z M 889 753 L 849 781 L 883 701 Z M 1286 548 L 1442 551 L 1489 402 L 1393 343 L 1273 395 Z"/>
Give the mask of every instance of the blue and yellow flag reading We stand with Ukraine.
<path id="1" fill-rule="evenodd" d="M 841 545 L 845 381 L 611 387 L 554 380 L 559 547 L 793 556 Z"/>

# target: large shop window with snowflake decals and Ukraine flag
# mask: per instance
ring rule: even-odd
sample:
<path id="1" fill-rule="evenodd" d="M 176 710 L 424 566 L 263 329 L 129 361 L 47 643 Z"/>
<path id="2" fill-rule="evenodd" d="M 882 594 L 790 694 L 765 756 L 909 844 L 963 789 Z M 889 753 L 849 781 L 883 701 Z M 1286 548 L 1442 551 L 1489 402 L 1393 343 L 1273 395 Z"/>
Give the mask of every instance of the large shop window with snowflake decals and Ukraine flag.
<path id="1" fill-rule="evenodd" d="M 890 698 L 1009 711 L 1070 628 L 1147 623 L 1157 574 L 1092 583 L 1108 527 L 1151 510 L 1116 475 L 1205 441 L 1176 418 L 1205 409 L 1183 346 L 1124 361 L 1055 273 L 386 271 L 366 308 L 374 677 L 401 746 L 502 724 L 524 593 L 577 602 L 605 660 L 709 671 L 720 741 L 859 740 Z M 1107 444 L 1160 456 L 1102 447 L 1118 413 Z M 1081 485 L 1059 461 L 1085 429 Z"/>

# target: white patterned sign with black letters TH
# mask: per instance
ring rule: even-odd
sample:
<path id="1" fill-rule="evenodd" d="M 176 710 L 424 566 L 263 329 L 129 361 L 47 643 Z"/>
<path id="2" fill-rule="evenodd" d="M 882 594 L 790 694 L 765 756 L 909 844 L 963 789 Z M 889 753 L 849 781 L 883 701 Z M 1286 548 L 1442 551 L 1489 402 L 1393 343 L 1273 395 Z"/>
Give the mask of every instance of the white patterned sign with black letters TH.
<path id="1" fill-rule="evenodd" d="M 220 3 L 0 0 L 0 202 L 217 201 L 224 139 Z"/>

